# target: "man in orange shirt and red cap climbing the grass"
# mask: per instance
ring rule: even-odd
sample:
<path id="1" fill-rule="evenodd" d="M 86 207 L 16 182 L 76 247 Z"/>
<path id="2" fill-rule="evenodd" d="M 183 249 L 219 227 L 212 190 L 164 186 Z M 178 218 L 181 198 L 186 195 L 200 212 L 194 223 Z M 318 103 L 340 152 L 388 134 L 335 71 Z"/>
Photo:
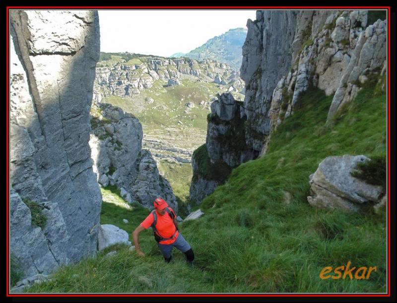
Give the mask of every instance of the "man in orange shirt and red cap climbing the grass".
<path id="1" fill-rule="evenodd" d="M 178 222 L 175 212 L 168 206 L 167 202 L 161 198 L 154 200 L 153 205 L 154 210 L 132 232 L 136 253 L 141 257 L 145 256 L 139 247 L 139 232 L 152 227 L 154 238 L 157 241 L 157 245 L 165 262 L 169 263 L 172 260 L 171 251 L 175 246 L 186 255 L 187 262 L 192 265 L 195 254 L 193 253 L 192 247 L 178 231 Z"/>

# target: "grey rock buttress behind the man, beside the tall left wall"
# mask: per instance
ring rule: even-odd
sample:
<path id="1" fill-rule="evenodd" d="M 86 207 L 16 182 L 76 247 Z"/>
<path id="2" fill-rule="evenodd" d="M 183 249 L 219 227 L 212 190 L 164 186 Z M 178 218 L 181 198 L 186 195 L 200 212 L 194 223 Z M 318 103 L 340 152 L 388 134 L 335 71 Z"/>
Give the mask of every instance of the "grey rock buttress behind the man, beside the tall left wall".
<path id="1" fill-rule="evenodd" d="M 138 119 L 119 107 L 94 103 L 91 108 L 91 157 L 102 186 L 116 185 L 121 196 L 153 209 L 162 197 L 178 212 L 169 182 L 158 172 L 150 151 L 142 150 L 142 126 Z"/>

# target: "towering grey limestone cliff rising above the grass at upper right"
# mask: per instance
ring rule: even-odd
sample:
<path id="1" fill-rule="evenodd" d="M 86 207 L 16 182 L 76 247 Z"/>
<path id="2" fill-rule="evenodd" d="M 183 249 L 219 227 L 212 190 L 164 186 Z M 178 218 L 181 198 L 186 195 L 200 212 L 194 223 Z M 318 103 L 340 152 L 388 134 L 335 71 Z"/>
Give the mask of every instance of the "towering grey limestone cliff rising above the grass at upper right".
<path id="1" fill-rule="evenodd" d="M 374 12 L 257 11 L 256 20 L 247 22 L 240 70 L 245 99 L 237 115 L 245 123 L 237 132 L 219 137 L 216 145 L 207 140 L 208 154 L 227 155 L 230 140 L 242 137 L 239 132 L 244 129 L 244 151 L 233 164 L 265 155 L 271 133 L 294 113 L 299 95 L 310 86 L 333 95 L 324 121 L 331 123 L 338 109 L 351 101 L 366 81 L 385 75 L 386 12 L 384 16 Z M 219 117 L 214 111 L 212 115 Z M 208 124 L 207 139 L 211 132 Z M 227 158 L 222 158 L 225 164 Z M 205 188 L 205 178 L 199 179 L 199 184 Z M 191 189 L 196 187 L 192 180 Z"/>

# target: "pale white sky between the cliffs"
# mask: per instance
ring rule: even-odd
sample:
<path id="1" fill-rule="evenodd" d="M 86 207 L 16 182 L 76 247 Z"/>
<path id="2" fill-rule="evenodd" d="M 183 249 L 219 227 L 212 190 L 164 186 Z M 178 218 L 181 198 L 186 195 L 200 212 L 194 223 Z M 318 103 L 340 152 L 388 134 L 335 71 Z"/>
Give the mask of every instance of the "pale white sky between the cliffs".
<path id="1" fill-rule="evenodd" d="M 188 53 L 231 28 L 247 28 L 256 10 L 98 10 L 102 52 L 169 57 Z"/>

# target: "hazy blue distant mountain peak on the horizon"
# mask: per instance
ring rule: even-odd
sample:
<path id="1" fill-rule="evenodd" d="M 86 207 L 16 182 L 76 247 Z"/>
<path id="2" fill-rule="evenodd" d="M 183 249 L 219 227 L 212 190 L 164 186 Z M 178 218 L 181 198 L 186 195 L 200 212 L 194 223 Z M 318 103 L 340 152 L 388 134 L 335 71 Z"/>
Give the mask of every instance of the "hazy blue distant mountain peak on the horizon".
<path id="1" fill-rule="evenodd" d="M 247 36 L 244 28 L 234 28 L 226 33 L 209 39 L 193 51 L 183 54 L 176 53 L 171 57 L 189 57 L 192 59 L 214 59 L 224 62 L 236 70 L 240 70 L 243 59 L 242 47 Z"/>

